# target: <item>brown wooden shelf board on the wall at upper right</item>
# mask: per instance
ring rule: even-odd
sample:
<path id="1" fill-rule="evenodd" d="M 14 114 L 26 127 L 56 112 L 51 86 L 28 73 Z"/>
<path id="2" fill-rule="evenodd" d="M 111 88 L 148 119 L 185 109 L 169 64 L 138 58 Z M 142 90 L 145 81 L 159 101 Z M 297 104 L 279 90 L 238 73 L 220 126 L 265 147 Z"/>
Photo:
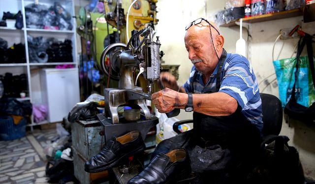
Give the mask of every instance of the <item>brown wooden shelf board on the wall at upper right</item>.
<path id="1" fill-rule="evenodd" d="M 303 9 L 297 8 L 297 9 L 281 11 L 281 12 L 276 12 L 276 13 L 269 13 L 269 14 L 258 15 L 258 16 L 253 16 L 253 17 L 246 17 L 246 18 L 243 18 L 243 23 L 259 23 L 259 22 L 264 22 L 264 21 L 272 21 L 272 20 L 278 20 L 278 19 L 284 19 L 284 18 L 290 18 L 290 17 L 297 17 L 301 15 L 303 15 Z M 239 21 L 239 19 L 236 21 Z M 221 27 L 236 26 L 235 24 L 236 21 L 221 25 Z"/>

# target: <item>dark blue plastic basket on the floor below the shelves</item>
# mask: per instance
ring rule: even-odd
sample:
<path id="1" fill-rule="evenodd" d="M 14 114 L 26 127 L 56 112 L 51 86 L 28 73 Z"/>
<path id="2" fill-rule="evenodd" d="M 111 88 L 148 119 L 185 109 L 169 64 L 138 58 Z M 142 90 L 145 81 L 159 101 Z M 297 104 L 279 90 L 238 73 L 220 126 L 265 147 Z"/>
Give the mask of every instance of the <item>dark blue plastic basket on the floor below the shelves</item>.
<path id="1" fill-rule="evenodd" d="M 17 125 L 11 116 L 0 116 L 0 140 L 14 140 L 26 135 L 26 119 Z"/>

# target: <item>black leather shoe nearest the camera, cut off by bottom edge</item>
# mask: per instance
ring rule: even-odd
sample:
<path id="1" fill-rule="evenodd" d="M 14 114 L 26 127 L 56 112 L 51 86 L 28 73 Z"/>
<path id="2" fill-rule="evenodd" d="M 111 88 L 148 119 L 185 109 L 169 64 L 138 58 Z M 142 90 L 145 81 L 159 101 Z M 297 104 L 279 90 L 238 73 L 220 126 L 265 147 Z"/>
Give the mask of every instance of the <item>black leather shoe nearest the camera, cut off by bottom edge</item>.
<path id="1" fill-rule="evenodd" d="M 191 172 L 187 151 L 179 148 L 159 153 L 149 165 L 127 184 L 175 184 L 189 177 Z"/>

